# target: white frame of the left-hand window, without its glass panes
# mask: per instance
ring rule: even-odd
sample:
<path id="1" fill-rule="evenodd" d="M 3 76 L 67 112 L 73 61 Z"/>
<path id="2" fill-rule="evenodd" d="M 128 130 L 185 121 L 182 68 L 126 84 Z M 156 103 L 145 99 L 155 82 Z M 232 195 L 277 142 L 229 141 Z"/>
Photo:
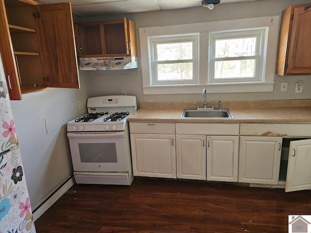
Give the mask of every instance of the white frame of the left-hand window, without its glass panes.
<path id="1" fill-rule="evenodd" d="M 158 61 L 156 59 L 156 45 L 166 43 L 178 43 L 178 42 L 192 42 L 192 59 L 181 60 L 180 63 L 191 62 L 192 63 L 192 79 L 191 80 L 171 80 L 171 81 L 159 81 L 157 78 L 158 64 L 176 64 L 179 60 Z M 175 84 L 197 84 L 198 83 L 198 48 L 199 48 L 199 33 L 187 33 L 187 34 L 174 34 L 174 35 L 161 35 L 161 36 L 149 36 L 148 37 L 148 50 L 151 54 L 149 56 L 150 67 L 150 83 L 152 85 L 175 85 Z"/>

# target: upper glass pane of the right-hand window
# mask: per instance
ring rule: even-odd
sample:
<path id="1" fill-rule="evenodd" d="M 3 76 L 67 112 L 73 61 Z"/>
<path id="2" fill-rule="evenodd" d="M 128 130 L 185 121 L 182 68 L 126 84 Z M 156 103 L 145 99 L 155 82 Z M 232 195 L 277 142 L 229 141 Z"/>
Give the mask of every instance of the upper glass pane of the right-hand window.
<path id="1" fill-rule="evenodd" d="M 215 41 L 215 57 L 254 56 L 256 54 L 256 38 L 219 39 Z"/>

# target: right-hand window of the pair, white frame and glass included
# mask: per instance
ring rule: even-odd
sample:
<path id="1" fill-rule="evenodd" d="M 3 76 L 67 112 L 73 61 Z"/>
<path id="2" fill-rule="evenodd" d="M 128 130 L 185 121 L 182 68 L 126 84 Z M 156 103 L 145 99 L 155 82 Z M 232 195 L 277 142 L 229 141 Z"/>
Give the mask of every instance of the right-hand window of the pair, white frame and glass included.
<path id="1" fill-rule="evenodd" d="M 208 83 L 264 82 L 268 28 L 209 33 Z"/>

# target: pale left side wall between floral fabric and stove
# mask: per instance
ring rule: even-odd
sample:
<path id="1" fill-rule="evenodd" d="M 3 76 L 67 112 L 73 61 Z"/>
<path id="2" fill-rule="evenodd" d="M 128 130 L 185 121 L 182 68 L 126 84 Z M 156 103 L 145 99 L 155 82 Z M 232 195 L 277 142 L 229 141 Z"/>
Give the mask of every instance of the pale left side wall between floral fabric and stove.
<path id="1" fill-rule="evenodd" d="M 33 210 L 72 175 L 66 124 L 86 113 L 89 84 L 83 73 L 80 84 L 81 89 L 50 88 L 11 100 Z M 77 100 L 83 103 L 81 111 Z M 51 123 L 50 133 L 46 119 Z"/>

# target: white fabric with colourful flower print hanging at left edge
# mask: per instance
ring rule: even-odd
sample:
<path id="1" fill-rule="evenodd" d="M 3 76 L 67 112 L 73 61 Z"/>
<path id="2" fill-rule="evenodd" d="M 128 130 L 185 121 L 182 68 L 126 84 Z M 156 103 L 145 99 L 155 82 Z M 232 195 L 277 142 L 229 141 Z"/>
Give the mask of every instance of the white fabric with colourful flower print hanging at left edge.
<path id="1" fill-rule="evenodd" d="M 35 233 L 1 59 L 0 126 L 0 233 Z"/>

